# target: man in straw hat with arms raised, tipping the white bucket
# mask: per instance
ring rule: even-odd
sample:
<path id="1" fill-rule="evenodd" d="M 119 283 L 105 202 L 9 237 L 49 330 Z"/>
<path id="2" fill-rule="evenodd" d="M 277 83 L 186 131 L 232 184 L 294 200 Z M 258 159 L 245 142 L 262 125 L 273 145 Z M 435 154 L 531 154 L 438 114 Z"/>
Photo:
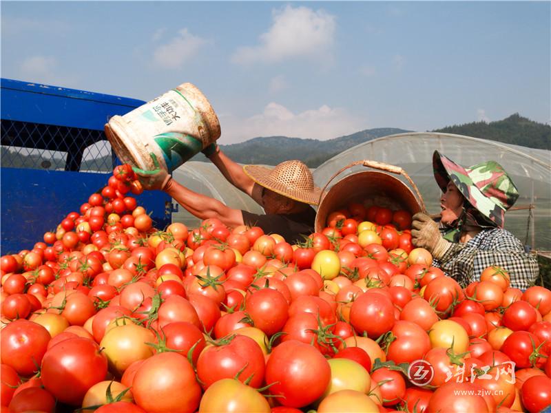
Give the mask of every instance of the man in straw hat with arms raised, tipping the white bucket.
<path id="1" fill-rule="evenodd" d="M 258 165 L 242 167 L 212 144 L 203 153 L 236 188 L 247 193 L 264 208 L 264 214 L 232 209 L 222 202 L 196 193 L 176 182 L 164 169 L 134 169 L 146 189 L 160 189 L 201 220 L 218 218 L 234 228 L 260 226 L 264 233 L 278 233 L 293 244 L 314 232 L 315 210 L 321 189 L 315 187 L 309 168 L 300 160 L 287 160 L 274 168 Z M 156 163 L 158 165 L 158 163 Z"/>

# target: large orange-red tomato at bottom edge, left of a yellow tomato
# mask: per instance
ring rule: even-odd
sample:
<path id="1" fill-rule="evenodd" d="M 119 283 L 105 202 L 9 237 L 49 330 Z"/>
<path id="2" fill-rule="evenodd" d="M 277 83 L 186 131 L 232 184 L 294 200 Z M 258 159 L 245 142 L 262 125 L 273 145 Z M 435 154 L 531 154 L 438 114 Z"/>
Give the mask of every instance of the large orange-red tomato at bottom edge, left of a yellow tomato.
<path id="1" fill-rule="evenodd" d="M 194 369 L 183 355 L 162 352 L 138 367 L 132 394 L 135 403 L 149 413 L 191 413 L 199 406 L 201 388 Z"/>

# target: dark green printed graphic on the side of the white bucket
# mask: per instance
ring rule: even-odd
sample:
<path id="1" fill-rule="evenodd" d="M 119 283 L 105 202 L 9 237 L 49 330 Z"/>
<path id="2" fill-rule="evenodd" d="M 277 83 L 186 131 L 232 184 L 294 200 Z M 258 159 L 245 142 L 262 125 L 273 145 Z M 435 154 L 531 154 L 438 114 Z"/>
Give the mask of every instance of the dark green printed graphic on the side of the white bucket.
<path id="1" fill-rule="evenodd" d="M 154 136 L 156 144 L 163 151 L 169 172 L 174 171 L 202 149 L 202 142 L 193 136 L 178 132 L 167 132 Z"/>

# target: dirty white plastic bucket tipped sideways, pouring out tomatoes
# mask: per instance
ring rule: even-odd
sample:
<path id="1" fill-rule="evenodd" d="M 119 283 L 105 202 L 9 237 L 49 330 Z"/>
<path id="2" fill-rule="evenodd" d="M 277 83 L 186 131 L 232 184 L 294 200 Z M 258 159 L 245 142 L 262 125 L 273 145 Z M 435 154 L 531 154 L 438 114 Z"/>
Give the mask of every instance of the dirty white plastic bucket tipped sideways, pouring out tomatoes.
<path id="1" fill-rule="evenodd" d="M 113 116 L 105 134 L 118 158 L 144 170 L 174 171 L 220 138 L 220 123 L 209 100 L 191 83 L 171 89 L 124 116 Z"/>

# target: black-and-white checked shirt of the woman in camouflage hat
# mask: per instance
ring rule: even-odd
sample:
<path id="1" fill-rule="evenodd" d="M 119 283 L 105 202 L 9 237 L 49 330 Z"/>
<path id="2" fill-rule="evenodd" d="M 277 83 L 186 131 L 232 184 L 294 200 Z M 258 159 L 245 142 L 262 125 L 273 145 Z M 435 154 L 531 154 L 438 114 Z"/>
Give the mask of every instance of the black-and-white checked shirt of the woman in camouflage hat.
<path id="1" fill-rule="evenodd" d="M 479 281 L 482 271 L 492 265 L 505 268 L 510 286 L 521 290 L 532 286 L 539 274 L 536 257 L 526 253 L 520 240 L 504 229 L 481 231 L 466 244 L 453 244 L 436 263 L 462 287 Z"/>

